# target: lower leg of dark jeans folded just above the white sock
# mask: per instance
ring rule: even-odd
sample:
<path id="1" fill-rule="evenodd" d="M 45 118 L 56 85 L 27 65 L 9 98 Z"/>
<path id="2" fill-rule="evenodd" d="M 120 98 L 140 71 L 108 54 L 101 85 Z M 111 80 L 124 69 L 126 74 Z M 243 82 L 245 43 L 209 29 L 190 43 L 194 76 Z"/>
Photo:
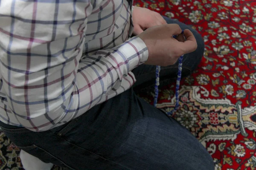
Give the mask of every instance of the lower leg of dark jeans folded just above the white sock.
<path id="1" fill-rule="evenodd" d="M 17 146 L 19 147 L 19 146 Z M 32 156 L 37 157 L 41 161 L 45 163 L 52 163 L 61 167 L 68 167 L 67 164 L 65 164 L 63 161 L 60 159 L 56 158 L 53 156 L 51 153 L 47 152 L 41 147 L 38 147 L 37 145 L 33 144 L 31 146 L 26 146 L 26 147 L 19 147 L 21 150 L 24 150 L 26 153 L 29 153 Z M 70 168 L 72 170 L 72 168 Z"/>

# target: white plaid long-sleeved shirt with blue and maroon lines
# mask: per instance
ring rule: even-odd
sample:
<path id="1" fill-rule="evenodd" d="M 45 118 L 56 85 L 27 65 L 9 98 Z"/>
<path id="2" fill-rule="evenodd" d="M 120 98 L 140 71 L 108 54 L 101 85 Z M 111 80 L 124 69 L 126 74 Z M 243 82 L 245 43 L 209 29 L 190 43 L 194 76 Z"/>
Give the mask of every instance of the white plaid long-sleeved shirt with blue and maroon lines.
<path id="1" fill-rule="evenodd" d="M 63 125 L 134 84 L 131 0 L 0 0 L 0 121 Z"/>

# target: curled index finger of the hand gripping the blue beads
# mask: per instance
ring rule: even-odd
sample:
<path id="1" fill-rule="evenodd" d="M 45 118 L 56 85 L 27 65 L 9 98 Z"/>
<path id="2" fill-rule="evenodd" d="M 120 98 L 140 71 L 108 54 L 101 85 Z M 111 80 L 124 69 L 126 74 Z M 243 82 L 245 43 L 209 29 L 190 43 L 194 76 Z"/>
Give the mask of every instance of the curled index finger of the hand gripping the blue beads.
<path id="1" fill-rule="evenodd" d="M 186 29 L 184 30 L 184 37 L 186 38 L 186 41 L 177 42 L 178 45 L 180 45 L 180 49 L 182 50 L 183 54 L 195 51 L 197 48 L 197 42 L 193 33 L 189 29 Z"/>

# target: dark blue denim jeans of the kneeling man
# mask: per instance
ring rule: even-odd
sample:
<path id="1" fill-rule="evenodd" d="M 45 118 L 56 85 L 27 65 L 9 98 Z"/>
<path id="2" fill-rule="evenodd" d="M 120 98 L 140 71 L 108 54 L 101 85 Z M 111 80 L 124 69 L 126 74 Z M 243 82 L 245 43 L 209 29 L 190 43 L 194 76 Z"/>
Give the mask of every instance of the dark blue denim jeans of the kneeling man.
<path id="1" fill-rule="evenodd" d="M 192 31 L 198 48 L 184 56 L 183 76 L 195 70 L 204 52 L 204 41 Z M 186 128 L 134 92 L 154 85 L 154 69 L 140 65 L 133 71 L 133 88 L 52 130 L 0 126 L 27 153 L 72 170 L 214 170 L 211 156 Z M 177 64 L 162 68 L 160 84 L 174 81 L 176 75 Z"/>

